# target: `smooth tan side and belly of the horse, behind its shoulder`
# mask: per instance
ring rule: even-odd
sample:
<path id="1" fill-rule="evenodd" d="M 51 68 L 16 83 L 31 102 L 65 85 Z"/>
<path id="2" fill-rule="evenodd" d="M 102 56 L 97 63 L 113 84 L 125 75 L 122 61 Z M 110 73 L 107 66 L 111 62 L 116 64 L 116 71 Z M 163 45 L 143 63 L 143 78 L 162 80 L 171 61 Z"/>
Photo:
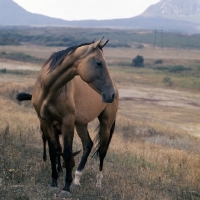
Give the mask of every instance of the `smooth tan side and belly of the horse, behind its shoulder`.
<path id="1" fill-rule="evenodd" d="M 106 103 L 102 102 L 101 96 L 79 76 L 76 76 L 72 83 L 74 87 L 76 122 L 87 124 L 99 116 Z"/>

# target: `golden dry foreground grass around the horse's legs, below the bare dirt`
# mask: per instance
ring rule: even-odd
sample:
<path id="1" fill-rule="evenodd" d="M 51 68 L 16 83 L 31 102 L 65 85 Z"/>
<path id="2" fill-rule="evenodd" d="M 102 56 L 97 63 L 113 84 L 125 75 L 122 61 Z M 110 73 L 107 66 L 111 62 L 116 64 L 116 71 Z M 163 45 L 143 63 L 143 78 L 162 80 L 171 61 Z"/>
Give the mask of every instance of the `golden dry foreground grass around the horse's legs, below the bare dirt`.
<path id="1" fill-rule="evenodd" d="M 54 198 L 48 192 L 50 162 L 42 161 L 37 116 L 30 103 L 19 105 L 8 99 L 13 99 L 16 91 L 29 92 L 31 84 L 25 87 L 11 83 L 0 87 L 1 198 Z M 92 138 L 96 126 L 97 122 L 90 125 Z M 90 157 L 81 187 L 72 188 L 72 197 L 91 200 L 198 199 L 199 144 L 199 139 L 173 127 L 137 118 L 133 120 L 119 111 L 116 131 L 105 159 L 103 188 L 95 187 L 99 161 Z M 73 149 L 82 149 L 77 135 Z M 80 156 L 76 163 L 79 159 Z M 63 183 L 64 174 L 59 179 L 60 188 Z"/>

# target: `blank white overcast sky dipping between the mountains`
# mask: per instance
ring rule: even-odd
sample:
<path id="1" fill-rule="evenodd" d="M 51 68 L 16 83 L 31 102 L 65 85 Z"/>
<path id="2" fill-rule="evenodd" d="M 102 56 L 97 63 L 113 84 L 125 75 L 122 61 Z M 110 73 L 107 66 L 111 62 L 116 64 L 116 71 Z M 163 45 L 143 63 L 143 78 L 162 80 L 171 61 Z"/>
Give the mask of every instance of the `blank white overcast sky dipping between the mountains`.
<path id="1" fill-rule="evenodd" d="M 118 19 L 141 14 L 160 0 L 13 0 L 29 12 L 65 20 Z"/>

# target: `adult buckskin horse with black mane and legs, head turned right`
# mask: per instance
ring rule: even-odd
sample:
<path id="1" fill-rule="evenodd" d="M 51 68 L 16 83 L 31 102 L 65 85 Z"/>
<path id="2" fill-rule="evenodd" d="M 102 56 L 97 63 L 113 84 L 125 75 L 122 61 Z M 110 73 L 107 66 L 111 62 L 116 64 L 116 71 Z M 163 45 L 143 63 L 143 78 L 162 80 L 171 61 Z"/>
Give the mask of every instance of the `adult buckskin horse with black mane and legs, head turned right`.
<path id="1" fill-rule="evenodd" d="M 65 161 L 66 178 L 62 195 L 66 197 L 73 180 L 70 162 L 73 157 L 74 128 L 76 127 L 83 145 L 83 155 L 74 180 L 74 184 L 78 185 L 93 146 L 87 126 L 97 117 L 100 130 L 96 153 L 99 155 L 100 165 L 96 186 L 101 187 L 103 162 L 114 132 L 119 99 L 103 55 L 102 49 L 107 42 L 108 40 L 102 43 L 101 39 L 52 54 L 39 72 L 32 95 L 21 98 L 32 99 L 42 132 L 48 140 L 52 187 L 57 187 L 57 152 Z M 20 94 L 17 98 L 20 100 Z M 63 150 L 56 136 L 58 130 L 62 133 Z"/>

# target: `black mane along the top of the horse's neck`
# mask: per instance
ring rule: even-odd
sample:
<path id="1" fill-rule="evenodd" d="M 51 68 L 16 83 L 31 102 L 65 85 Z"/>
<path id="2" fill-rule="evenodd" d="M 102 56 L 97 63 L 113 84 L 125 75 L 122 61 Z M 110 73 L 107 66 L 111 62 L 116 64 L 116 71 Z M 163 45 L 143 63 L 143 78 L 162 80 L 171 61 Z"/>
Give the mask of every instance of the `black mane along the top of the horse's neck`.
<path id="1" fill-rule="evenodd" d="M 80 45 L 71 46 L 65 50 L 55 52 L 44 62 L 43 66 L 45 66 L 48 62 L 51 62 L 50 66 L 49 66 L 49 71 L 51 72 L 63 62 L 64 58 L 69 54 L 69 52 L 71 52 L 71 51 L 74 52 L 77 48 L 79 48 L 81 46 L 90 45 L 93 43 L 94 43 L 94 41 L 90 42 L 90 43 L 82 43 Z M 99 46 L 99 48 L 101 49 L 100 46 Z"/>

